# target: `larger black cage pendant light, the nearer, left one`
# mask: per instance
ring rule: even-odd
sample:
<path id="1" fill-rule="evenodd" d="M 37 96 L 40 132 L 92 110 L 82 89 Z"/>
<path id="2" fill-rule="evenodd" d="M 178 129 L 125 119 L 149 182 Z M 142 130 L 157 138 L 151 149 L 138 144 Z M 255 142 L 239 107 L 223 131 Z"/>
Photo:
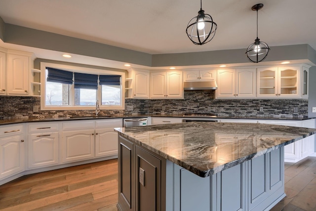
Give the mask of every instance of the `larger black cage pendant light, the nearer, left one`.
<path id="1" fill-rule="evenodd" d="M 186 33 L 190 40 L 195 44 L 205 44 L 210 42 L 216 32 L 217 24 L 213 22 L 212 17 L 209 14 L 205 14 L 201 8 L 198 11 L 197 17 L 191 19 L 188 23 Z"/>

